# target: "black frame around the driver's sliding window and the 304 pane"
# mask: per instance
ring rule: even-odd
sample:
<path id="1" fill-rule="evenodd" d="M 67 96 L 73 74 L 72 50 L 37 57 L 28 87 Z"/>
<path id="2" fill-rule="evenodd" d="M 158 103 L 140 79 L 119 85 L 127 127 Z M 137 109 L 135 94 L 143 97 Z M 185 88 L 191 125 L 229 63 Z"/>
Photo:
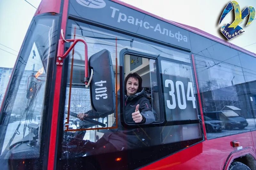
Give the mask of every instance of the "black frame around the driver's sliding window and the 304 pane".
<path id="1" fill-rule="evenodd" d="M 184 51 L 180 51 L 181 53 L 187 53 Z M 142 53 L 142 52 L 138 52 L 138 51 L 134 51 L 134 50 L 130 50 L 130 49 L 122 49 L 120 51 L 119 54 L 119 60 L 120 60 L 120 120 L 121 120 L 121 124 L 125 127 L 125 128 L 141 128 L 141 127 L 156 127 L 156 126 L 172 126 L 172 125 L 185 125 L 185 124 L 200 124 L 199 119 L 197 120 L 172 120 L 172 121 L 167 121 L 166 120 L 166 114 L 165 114 L 165 110 L 163 109 L 163 107 L 160 107 L 160 116 L 163 117 L 162 121 L 158 121 L 158 122 L 153 122 L 151 124 L 128 124 L 125 121 L 125 117 L 124 117 L 124 55 L 125 54 L 130 54 L 130 55 L 134 55 L 134 56 L 138 56 L 138 57 L 143 57 L 143 58 L 147 58 L 147 59 L 154 59 L 156 60 L 156 76 L 157 76 L 157 84 L 158 84 L 158 96 L 159 96 L 159 104 L 160 106 L 165 106 L 164 104 L 164 96 L 163 96 L 163 91 L 164 91 L 164 87 L 163 87 L 163 78 L 160 75 L 162 68 L 161 68 L 161 60 L 164 61 L 170 61 L 170 62 L 174 62 L 174 63 L 182 63 L 184 65 L 188 65 L 191 66 L 193 71 L 193 64 L 192 63 L 188 63 L 185 61 L 180 61 L 180 60 L 174 60 L 174 59 L 170 59 L 170 58 L 166 58 L 166 57 L 161 57 L 160 55 L 156 56 L 156 55 L 152 55 L 152 54 L 148 54 L 148 53 Z M 190 55 L 191 60 L 192 60 L 192 56 L 191 53 L 187 53 Z M 195 79 L 195 74 L 192 71 L 192 77 L 194 82 L 196 82 Z M 196 85 L 196 84 L 194 84 Z M 197 115 L 199 114 L 199 110 L 198 110 L 198 106 L 199 103 L 196 100 L 196 106 L 197 106 Z"/>

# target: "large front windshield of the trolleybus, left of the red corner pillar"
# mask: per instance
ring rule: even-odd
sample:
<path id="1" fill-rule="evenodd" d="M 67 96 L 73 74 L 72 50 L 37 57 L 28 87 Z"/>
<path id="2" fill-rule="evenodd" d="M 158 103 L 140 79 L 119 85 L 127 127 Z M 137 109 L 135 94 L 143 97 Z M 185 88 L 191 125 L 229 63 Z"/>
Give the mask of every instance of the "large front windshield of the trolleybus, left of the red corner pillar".
<path id="1" fill-rule="evenodd" d="M 4 159 L 38 158 L 41 120 L 45 113 L 46 84 L 55 55 L 56 20 L 36 18 L 13 70 L 13 78 L 3 108 L 1 156 Z M 55 38 L 56 40 L 56 38 Z M 27 154 L 25 154 L 27 153 Z"/>

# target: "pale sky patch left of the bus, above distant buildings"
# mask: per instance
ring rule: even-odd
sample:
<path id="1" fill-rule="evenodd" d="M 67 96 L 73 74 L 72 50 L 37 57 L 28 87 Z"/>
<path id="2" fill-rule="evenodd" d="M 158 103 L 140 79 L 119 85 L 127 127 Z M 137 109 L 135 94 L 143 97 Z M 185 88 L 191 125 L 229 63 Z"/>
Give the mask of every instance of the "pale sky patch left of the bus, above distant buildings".
<path id="1" fill-rule="evenodd" d="M 27 1 L 36 8 L 40 3 L 39 0 Z M 0 67 L 14 66 L 35 12 L 36 9 L 24 0 L 0 1 Z"/>

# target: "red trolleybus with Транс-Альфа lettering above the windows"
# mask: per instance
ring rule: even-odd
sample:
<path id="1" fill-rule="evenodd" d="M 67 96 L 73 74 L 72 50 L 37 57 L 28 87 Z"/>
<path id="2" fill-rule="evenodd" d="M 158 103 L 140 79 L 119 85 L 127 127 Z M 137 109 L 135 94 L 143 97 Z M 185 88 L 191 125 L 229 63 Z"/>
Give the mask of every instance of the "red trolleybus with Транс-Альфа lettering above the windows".
<path id="1" fill-rule="evenodd" d="M 255 57 L 117 0 L 43 0 L 1 106 L 1 169 L 256 169 Z M 123 114 L 131 72 L 151 124 Z M 88 154 L 120 127 L 138 145 Z"/>

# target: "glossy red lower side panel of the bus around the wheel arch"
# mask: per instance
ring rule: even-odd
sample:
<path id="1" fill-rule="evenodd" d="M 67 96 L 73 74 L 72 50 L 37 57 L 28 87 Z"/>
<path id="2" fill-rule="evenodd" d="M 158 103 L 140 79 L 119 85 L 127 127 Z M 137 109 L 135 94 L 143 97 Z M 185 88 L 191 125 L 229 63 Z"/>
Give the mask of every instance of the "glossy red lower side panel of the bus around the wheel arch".
<path id="1" fill-rule="evenodd" d="M 224 166 L 228 168 L 233 159 L 247 153 L 256 159 L 252 136 L 256 136 L 255 131 L 205 140 L 141 169 L 223 169 Z M 233 140 L 238 140 L 244 149 L 235 152 L 237 147 L 230 145 Z M 234 156 L 228 159 L 231 152 L 234 152 Z"/>

